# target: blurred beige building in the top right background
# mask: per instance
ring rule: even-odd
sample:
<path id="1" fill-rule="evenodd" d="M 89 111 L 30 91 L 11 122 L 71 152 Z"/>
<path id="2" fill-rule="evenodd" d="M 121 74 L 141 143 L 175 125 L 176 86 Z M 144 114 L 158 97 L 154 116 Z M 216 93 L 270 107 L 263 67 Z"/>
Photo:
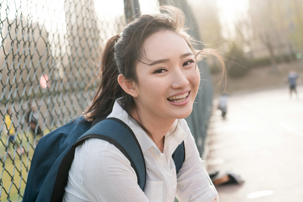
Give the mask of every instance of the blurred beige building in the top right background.
<path id="1" fill-rule="evenodd" d="M 299 0 L 249 0 L 250 57 L 290 56 L 303 49 L 303 3 Z"/>

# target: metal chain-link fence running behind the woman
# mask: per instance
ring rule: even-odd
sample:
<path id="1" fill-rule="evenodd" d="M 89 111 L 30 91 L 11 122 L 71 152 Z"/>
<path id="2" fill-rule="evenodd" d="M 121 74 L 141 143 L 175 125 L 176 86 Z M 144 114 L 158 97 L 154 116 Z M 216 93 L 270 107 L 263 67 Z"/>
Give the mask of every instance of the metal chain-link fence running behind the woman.
<path id="1" fill-rule="evenodd" d="M 22 200 L 37 141 L 88 106 L 99 47 L 139 12 L 138 0 L 0 0 L 0 201 Z M 199 68 L 210 79 L 204 62 Z M 200 153 L 211 102 L 211 82 L 202 81 L 187 118 Z"/>

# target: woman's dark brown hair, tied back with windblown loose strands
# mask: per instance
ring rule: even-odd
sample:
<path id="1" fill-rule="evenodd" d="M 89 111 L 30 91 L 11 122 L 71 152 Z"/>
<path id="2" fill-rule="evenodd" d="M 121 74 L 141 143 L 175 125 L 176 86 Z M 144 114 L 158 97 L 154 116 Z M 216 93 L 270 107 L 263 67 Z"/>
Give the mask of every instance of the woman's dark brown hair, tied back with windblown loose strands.
<path id="1" fill-rule="evenodd" d="M 100 85 L 91 105 L 84 113 L 87 120 L 105 119 L 112 112 L 115 100 L 120 97 L 123 97 L 121 100 L 123 109 L 130 116 L 130 110 L 135 107 L 134 99 L 121 88 L 118 75 L 123 74 L 128 81 L 137 83 L 136 64 L 142 59 L 150 61 L 144 57 L 143 43 L 146 38 L 156 32 L 171 30 L 180 34 L 198 60 L 207 55 L 219 56 L 217 52 L 210 49 L 195 51 L 193 46 L 197 41 L 186 33 L 185 16 L 180 9 L 165 6 L 160 10 L 165 13 L 138 17 L 125 26 L 120 35 L 113 36 L 106 43 L 101 59 L 101 70 L 97 76 L 100 79 Z M 223 63 L 220 56 L 219 59 Z M 149 134 L 140 123 L 131 116 L 130 118 Z"/>

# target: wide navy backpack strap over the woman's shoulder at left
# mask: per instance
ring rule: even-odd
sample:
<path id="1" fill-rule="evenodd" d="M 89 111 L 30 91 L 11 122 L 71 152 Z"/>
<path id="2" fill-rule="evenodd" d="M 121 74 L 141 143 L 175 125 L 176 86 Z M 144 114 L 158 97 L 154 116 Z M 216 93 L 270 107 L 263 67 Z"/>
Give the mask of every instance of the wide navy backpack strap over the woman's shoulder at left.
<path id="1" fill-rule="evenodd" d="M 68 172 L 74 159 L 75 149 L 88 138 L 104 139 L 114 144 L 130 161 L 135 170 L 138 185 L 143 190 L 146 180 L 146 166 L 140 144 L 133 131 L 121 120 L 108 118 L 96 123 L 85 132 L 64 157 L 56 179 L 51 201 L 62 201 L 64 188 L 68 181 Z"/>

